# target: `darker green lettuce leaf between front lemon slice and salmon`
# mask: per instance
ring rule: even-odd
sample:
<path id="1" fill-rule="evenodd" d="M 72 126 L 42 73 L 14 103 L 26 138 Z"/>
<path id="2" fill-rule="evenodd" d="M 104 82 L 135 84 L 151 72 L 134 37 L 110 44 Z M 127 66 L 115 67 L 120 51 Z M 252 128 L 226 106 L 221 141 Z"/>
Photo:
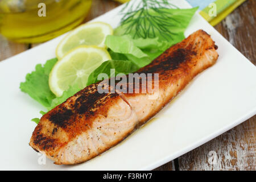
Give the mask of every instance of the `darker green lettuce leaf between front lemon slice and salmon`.
<path id="1" fill-rule="evenodd" d="M 116 76 L 118 73 L 123 73 L 125 75 L 127 75 L 128 73 L 133 73 L 137 71 L 139 67 L 131 61 L 123 61 L 123 60 L 105 61 L 100 65 L 100 67 L 98 67 L 96 70 L 94 70 L 90 74 L 87 85 L 101 81 L 97 79 L 100 73 L 106 73 L 109 76 L 109 78 L 112 77 L 113 75 L 110 75 L 110 69 L 115 69 L 115 76 Z"/>

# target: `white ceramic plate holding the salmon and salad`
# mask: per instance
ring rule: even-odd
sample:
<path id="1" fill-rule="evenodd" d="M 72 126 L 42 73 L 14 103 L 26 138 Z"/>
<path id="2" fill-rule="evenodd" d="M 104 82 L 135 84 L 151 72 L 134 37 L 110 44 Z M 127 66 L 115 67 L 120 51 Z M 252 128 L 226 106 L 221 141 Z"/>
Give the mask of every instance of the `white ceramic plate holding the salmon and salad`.
<path id="1" fill-rule="evenodd" d="M 174 1 L 189 8 L 185 1 Z M 94 19 L 117 27 L 121 7 Z M 61 38 L 0 62 L 0 169 L 98 170 L 154 169 L 256 114 L 256 67 L 196 14 L 185 35 L 203 29 L 218 45 L 217 63 L 197 76 L 164 108 L 156 119 L 135 131 L 122 143 L 89 162 L 56 166 L 36 153 L 28 142 L 43 106 L 20 92 L 19 84 L 38 63 L 55 57 Z M 39 162 L 38 162 L 39 161 Z"/>

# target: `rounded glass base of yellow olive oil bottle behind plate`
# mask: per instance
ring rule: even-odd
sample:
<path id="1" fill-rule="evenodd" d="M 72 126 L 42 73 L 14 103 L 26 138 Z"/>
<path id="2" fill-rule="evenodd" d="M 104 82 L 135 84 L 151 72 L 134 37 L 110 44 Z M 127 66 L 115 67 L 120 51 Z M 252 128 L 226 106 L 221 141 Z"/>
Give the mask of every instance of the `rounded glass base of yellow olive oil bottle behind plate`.
<path id="1" fill-rule="evenodd" d="M 0 0 L 0 34 L 14 42 L 39 43 L 82 22 L 92 0 Z"/>

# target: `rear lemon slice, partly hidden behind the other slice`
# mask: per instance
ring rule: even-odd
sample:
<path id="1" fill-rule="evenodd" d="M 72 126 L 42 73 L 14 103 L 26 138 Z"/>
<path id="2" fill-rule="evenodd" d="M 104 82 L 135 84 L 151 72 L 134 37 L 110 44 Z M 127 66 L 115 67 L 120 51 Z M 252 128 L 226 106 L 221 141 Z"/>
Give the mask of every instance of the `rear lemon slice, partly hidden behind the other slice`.
<path id="1" fill-rule="evenodd" d="M 113 35 L 113 28 L 107 23 L 82 24 L 61 40 L 56 48 L 56 56 L 60 59 L 71 49 L 82 45 L 105 48 L 104 43 L 108 35 Z"/>

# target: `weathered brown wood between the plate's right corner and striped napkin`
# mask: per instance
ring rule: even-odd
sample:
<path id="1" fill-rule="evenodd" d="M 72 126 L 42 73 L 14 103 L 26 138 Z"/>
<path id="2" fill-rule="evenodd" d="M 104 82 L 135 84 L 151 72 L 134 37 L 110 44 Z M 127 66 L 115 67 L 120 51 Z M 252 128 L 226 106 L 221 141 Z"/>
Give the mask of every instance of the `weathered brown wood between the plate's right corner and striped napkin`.
<path id="1" fill-rule="evenodd" d="M 248 0 L 215 28 L 253 64 L 256 64 L 256 1 Z"/>

